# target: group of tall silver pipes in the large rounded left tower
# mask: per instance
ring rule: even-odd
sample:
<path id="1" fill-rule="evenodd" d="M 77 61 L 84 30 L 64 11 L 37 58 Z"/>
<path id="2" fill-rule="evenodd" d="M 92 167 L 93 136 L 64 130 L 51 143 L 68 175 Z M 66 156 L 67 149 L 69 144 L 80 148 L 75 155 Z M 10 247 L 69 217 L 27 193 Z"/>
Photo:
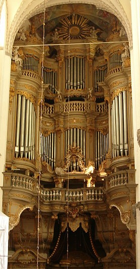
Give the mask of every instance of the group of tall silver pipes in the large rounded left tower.
<path id="1" fill-rule="evenodd" d="M 33 103 L 24 95 L 17 96 L 15 156 L 35 158 L 36 113 Z"/>

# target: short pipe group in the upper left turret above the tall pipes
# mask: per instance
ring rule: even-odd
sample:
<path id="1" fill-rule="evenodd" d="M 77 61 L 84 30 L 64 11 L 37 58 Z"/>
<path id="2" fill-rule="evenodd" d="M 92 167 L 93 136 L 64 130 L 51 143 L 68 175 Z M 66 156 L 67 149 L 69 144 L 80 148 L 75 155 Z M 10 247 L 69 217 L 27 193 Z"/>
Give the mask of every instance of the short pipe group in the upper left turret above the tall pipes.
<path id="1" fill-rule="evenodd" d="M 38 72 L 39 59 L 34 55 L 26 55 L 23 59 L 23 70 Z"/>

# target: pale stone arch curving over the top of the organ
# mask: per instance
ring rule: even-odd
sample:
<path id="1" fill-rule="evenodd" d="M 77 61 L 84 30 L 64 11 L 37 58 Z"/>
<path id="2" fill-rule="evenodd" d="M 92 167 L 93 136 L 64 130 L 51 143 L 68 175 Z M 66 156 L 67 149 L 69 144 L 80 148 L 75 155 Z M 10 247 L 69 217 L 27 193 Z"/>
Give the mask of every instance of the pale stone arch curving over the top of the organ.
<path id="1" fill-rule="evenodd" d="M 12 54 L 12 47 L 13 47 L 13 43 L 14 43 L 14 39 L 15 36 L 18 32 L 18 30 L 20 29 L 20 26 L 22 24 L 24 24 L 24 22 L 31 18 L 32 16 L 43 12 L 44 10 L 44 1 L 41 0 L 40 3 L 38 5 L 34 5 L 33 3 L 34 1 L 32 1 L 31 3 L 26 3 L 22 2 L 17 13 L 15 14 L 14 20 L 11 24 L 11 27 L 7 33 L 7 41 L 6 41 L 6 51 L 8 54 Z M 131 33 L 131 27 L 130 27 L 130 23 L 129 20 L 126 16 L 126 13 L 122 7 L 122 5 L 120 4 L 119 0 L 116 1 L 117 5 L 114 6 L 114 4 L 112 3 L 112 1 L 110 0 L 104 0 L 104 1 L 96 1 L 96 0 L 88 0 L 88 1 L 79 1 L 77 2 L 72 1 L 71 4 L 73 3 L 81 3 L 81 4 L 93 4 L 97 7 L 97 9 L 102 9 L 105 11 L 108 11 L 112 14 L 114 14 L 122 23 L 122 25 L 125 28 L 127 37 L 128 37 L 128 41 L 129 41 L 129 46 L 132 46 L 132 33 Z M 45 4 L 45 8 L 53 6 L 53 5 L 60 5 L 60 4 L 69 4 L 69 2 L 67 2 L 67 0 L 64 0 L 63 2 L 56 0 L 56 1 L 50 1 L 47 0 L 46 4 Z M 24 8 L 25 7 L 25 8 Z"/>

